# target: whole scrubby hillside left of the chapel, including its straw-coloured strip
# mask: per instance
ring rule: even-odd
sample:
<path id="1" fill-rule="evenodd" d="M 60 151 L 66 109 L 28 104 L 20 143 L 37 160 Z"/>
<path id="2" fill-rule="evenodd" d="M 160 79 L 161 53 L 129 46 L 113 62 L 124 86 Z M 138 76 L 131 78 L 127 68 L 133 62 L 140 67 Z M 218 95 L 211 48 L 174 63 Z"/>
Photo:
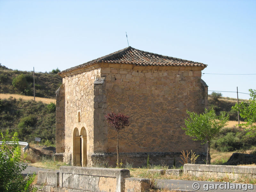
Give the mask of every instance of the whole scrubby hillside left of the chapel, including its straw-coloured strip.
<path id="1" fill-rule="evenodd" d="M 0 64 L 1 132 L 8 128 L 10 135 L 18 132 L 20 141 L 31 143 L 39 137 L 42 142 L 49 140 L 55 144 L 55 92 L 62 83 L 57 72 L 56 69 L 49 73 L 35 73 L 34 101 L 34 97 L 29 97 L 34 94 L 33 72 L 12 70 Z M 26 78 L 24 92 L 12 85 L 13 79 L 19 75 Z"/>

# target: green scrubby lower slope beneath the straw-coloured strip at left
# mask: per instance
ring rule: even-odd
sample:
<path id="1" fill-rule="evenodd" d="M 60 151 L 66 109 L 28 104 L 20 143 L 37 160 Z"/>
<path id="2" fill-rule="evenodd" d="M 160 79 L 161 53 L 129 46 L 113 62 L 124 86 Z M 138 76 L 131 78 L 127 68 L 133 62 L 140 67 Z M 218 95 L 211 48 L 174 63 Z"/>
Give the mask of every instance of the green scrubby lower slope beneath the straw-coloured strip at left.
<path id="1" fill-rule="evenodd" d="M 55 144 L 55 104 L 34 100 L 0 99 L 0 129 L 9 129 L 10 135 L 18 132 L 24 142 L 50 140 Z"/>

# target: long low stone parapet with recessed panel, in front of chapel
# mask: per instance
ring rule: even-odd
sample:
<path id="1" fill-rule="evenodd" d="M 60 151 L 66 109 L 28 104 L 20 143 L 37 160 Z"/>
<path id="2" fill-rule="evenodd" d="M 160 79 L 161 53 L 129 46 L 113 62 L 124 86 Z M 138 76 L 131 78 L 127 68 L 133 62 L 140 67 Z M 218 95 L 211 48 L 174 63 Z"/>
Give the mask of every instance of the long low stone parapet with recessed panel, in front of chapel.
<path id="1" fill-rule="evenodd" d="M 93 192 L 124 192 L 128 169 L 99 167 L 60 167 L 60 187 Z"/>

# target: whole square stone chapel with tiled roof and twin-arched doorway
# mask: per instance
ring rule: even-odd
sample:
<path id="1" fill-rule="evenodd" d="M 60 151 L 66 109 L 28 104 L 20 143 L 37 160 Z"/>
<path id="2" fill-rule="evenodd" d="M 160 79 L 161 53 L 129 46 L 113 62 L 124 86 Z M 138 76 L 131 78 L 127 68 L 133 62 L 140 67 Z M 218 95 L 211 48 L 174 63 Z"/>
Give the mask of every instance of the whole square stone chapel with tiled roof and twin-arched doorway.
<path id="1" fill-rule="evenodd" d="M 55 159 L 78 166 L 116 164 L 117 132 L 110 112 L 130 116 L 119 133 L 119 158 L 134 166 L 179 162 L 181 150 L 203 154 L 205 146 L 181 129 L 186 110 L 207 108 L 207 65 L 132 47 L 88 61 L 58 74 Z"/>

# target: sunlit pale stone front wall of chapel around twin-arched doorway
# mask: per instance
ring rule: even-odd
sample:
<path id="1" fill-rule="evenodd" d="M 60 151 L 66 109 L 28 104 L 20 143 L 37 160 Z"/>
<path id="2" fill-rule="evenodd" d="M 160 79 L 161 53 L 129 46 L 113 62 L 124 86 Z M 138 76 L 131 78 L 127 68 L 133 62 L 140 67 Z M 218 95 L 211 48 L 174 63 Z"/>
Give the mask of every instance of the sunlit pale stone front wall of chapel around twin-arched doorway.
<path id="1" fill-rule="evenodd" d="M 73 152 L 73 132 L 78 128 L 79 134 L 84 127 L 87 134 L 87 156 L 93 153 L 93 119 L 94 119 L 94 81 L 100 69 L 92 69 L 80 74 L 63 78 L 65 84 L 65 153 L 64 162 L 71 162 Z M 78 122 L 80 112 L 80 122 Z"/>

